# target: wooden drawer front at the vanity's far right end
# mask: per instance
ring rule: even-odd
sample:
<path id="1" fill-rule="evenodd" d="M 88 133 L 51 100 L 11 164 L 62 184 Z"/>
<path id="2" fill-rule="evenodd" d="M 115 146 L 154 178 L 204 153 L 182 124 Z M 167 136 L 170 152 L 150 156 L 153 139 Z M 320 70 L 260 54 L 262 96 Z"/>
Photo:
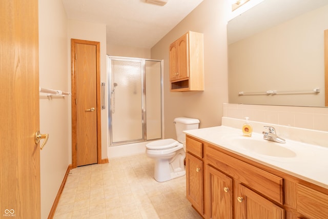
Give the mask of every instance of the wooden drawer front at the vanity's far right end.
<path id="1" fill-rule="evenodd" d="M 296 185 L 297 211 L 310 218 L 328 218 L 328 195 L 303 186 Z"/>

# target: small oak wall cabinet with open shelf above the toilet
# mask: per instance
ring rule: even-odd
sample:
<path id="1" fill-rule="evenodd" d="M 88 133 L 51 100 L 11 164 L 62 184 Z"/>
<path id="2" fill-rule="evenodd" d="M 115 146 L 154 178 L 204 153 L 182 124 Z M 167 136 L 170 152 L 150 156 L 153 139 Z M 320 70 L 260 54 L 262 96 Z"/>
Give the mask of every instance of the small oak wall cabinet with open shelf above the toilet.
<path id="1" fill-rule="evenodd" d="M 204 90 L 203 34 L 189 31 L 170 45 L 170 90 Z"/>

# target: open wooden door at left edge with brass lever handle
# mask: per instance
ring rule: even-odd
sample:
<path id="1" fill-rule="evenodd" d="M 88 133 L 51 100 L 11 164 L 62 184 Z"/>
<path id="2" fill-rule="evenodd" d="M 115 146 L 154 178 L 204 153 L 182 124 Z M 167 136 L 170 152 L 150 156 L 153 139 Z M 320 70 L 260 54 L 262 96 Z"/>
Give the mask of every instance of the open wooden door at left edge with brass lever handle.
<path id="1" fill-rule="evenodd" d="M 38 1 L 0 1 L 0 217 L 40 218 Z"/>

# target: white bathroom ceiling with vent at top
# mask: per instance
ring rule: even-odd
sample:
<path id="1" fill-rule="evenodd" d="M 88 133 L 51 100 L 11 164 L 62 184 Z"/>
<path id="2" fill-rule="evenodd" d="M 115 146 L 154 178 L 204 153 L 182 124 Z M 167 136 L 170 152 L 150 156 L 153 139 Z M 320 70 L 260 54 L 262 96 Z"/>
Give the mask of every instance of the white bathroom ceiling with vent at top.
<path id="1" fill-rule="evenodd" d="M 106 24 L 107 43 L 152 48 L 203 0 L 62 0 L 70 19 Z"/>

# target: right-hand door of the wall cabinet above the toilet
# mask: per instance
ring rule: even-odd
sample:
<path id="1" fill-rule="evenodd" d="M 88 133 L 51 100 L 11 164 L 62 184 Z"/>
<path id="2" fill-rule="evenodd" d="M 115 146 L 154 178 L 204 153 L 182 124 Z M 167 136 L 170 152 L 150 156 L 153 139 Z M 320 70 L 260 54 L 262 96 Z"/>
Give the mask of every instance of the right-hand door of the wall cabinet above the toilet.
<path id="1" fill-rule="evenodd" d="M 189 77 L 188 33 L 177 40 L 178 79 Z"/>

